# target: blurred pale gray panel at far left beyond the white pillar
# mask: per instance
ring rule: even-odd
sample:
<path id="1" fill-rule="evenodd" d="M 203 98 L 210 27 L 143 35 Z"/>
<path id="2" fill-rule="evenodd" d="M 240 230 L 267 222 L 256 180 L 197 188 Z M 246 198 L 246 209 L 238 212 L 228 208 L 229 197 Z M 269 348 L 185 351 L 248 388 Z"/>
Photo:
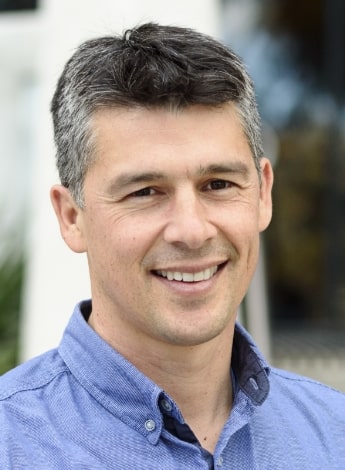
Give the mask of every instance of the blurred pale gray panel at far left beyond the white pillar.
<path id="1" fill-rule="evenodd" d="M 0 15 L 0 261 L 23 242 L 35 93 L 34 15 Z"/>

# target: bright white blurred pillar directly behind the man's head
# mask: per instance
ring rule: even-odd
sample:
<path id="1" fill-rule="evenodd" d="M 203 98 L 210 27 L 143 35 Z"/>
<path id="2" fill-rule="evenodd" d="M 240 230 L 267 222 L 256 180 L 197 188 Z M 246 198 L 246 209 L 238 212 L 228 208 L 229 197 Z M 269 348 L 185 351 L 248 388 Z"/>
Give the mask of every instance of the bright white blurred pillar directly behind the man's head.
<path id="1" fill-rule="evenodd" d="M 56 346 L 74 305 L 90 296 L 86 259 L 64 245 L 49 201 L 49 188 L 58 181 L 49 104 L 64 63 L 81 41 L 144 21 L 189 26 L 219 37 L 219 16 L 217 0 L 41 1 L 34 26 L 38 91 L 22 360 Z"/>

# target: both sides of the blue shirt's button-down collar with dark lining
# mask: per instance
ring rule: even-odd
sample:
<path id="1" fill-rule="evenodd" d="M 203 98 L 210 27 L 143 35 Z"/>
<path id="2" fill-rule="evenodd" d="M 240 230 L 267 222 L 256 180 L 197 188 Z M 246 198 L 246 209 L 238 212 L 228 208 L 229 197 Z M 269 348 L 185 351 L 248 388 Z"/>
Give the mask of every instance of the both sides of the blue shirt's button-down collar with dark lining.
<path id="1" fill-rule="evenodd" d="M 168 405 L 175 418 L 183 418 L 173 400 L 115 351 L 87 324 L 91 301 L 78 304 L 64 332 L 59 353 L 74 378 L 103 407 L 155 444 L 163 426 L 161 408 Z M 268 395 L 267 363 L 255 343 L 236 325 L 232 368 L 236 384 L 254 405 Z M 154 423 L 154 429 L 152 429 Z"/>

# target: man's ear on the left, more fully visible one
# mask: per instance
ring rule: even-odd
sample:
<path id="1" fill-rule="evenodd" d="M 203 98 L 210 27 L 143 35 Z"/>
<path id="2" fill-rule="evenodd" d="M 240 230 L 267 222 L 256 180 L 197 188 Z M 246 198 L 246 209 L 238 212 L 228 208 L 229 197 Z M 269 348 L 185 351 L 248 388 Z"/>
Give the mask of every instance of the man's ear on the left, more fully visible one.
<path id="1" fill-rule="evenodd" d="M 62 238 L 71 250 L 76 253 L 85 252 L 82 209 L 77 206 L 70 191 L 61 185 L 51 188 L 50 199 L 60 225 Z"/>

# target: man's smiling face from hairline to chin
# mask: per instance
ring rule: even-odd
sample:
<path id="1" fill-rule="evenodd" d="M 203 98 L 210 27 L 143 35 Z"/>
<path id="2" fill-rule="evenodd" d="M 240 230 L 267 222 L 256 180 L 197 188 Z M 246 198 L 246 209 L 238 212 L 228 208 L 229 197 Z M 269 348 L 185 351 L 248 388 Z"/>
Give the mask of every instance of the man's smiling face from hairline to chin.
<path id="1" fill-rule="evenodd" d="M 78 214 L 103 336 L 196 345 L 235 320 L 271 217 L 234 108 L 102 109 Z M 102 326 L 103 325 L 103 326 Z"/>

